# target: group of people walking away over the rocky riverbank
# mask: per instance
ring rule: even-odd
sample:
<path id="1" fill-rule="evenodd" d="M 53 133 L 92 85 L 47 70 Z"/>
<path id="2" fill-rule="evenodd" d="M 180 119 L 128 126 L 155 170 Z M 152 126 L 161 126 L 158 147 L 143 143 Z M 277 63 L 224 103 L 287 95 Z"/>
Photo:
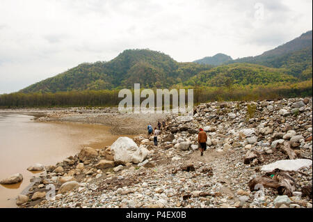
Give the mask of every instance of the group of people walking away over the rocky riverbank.
<path id="1" fill-rule="evenodd" d="M 152 128 L 152 125 L 149 124 L 147 126 L 147 131 L 148 131 L 148 135 L 152 135 L 154 134 L 154 145 L 158 145 L 158 136 L 159 134 L 161 133 L 161 128 L 163 126 L 163 130 L 165 129 L 166 127 L 166 122 L 163 121 L 162 124 L 160 121 L 158 121 L 157 123 L 157 127 L 159 129 L 157 129 L 157 127 L 154 127 L 154 130 Z M 207 150 L 207 134 L 206 132 L 204 132 L 204 130 L 202 128 L 199 129 L 199 134 L 198 134 L 198 148 L 200 150 L 200 155 L 203 156 L 203 152 L 205 150 Z"/>

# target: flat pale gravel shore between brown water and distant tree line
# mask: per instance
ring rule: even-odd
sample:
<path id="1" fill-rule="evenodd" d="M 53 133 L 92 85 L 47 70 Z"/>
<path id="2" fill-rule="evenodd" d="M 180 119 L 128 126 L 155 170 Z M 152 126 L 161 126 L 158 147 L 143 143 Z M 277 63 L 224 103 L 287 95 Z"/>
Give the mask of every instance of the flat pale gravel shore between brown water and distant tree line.
<path id="1" fill-rule="evenodd" d="M 111 127 L 112 134 L 138 135 L 147 132 L 147 125 L 157 127 L 157 122 L 166 120 L 166 114 L 118 113 L 116 107 L 54 108 L 54 109 L 1 109 L 3 113 L 21 113 L 35 116 L 40 122 L 80 122 Z"/>

